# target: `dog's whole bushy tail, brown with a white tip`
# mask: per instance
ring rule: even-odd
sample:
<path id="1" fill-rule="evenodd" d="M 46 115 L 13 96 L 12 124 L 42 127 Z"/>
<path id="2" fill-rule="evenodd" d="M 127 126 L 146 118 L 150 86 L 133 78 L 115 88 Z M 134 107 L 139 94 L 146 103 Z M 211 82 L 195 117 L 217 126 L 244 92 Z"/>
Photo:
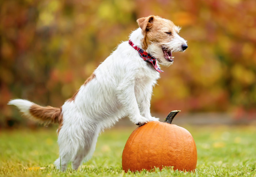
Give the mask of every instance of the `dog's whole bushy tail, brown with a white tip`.
<path id="1" fill-rule="evenodd" d="M 8 104 L 17 106 L 20 112 L 23 112 L 25 116 L 34 121 L 44 124 L 61 124 L 62 122 L 61 108 L 54 108 L 51 106 L 43 107 L 28 100 L 22 99 L 11 100 L 8 102 Z"/>

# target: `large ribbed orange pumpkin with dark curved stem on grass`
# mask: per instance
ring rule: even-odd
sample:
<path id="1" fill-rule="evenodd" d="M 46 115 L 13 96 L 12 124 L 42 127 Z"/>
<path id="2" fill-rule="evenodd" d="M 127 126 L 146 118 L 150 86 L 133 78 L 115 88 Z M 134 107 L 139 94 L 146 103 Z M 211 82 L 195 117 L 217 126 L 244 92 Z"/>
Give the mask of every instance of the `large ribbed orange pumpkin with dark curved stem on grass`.
<path id="1" fill-rule="evenodd" d="M 171 124 L 180 111 L 172 111 L 165 122 L 152 121 L 135 129 L 126 142 L 122 168 L 127 172 L 174 166 L 174 170 L 193 171 L 197 166 L 197 148 L 191 134 Z"/>

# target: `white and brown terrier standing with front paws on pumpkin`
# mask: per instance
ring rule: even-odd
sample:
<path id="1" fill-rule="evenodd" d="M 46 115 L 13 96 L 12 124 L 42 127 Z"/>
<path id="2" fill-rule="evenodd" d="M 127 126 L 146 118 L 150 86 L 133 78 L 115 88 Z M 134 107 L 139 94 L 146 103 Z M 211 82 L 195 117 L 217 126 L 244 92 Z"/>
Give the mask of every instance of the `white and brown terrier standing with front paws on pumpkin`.
<path id="1" fill-rule="evenodd" d="M 178 35 L 181 28 L 170 20 L 151 15 L 137 22 L 139 28 L 130 34 L 129 42 L 119 44 L 61 108 L 9 101 L 35 121 L 59 123 L 56 168 L 66 170 L 71 160 L 76 170 L 82 160 L 89 160 L 98 134 L 122 117 L 139 126 L 159 120 L 150 113 L 153 86 L 163 72 L 159 64 L 170 66 L 172 52 L 183 52 L 188 46 Z"/>

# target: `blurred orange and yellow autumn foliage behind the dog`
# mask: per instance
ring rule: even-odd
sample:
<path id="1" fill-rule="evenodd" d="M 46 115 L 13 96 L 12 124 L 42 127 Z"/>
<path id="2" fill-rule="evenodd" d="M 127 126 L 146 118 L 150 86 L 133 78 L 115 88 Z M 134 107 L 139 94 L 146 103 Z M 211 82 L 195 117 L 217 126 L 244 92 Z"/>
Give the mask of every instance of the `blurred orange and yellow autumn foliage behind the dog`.
<path id="1" fill-rule="evenodd" d="M 255 118 L 255 0 L 1 0 L 0 8 L 0 127 L 21 119 L 10 99 L 61 106 L 148 15 L 172 20 L 188 41 L 162 67 L 151 112 Z"/>

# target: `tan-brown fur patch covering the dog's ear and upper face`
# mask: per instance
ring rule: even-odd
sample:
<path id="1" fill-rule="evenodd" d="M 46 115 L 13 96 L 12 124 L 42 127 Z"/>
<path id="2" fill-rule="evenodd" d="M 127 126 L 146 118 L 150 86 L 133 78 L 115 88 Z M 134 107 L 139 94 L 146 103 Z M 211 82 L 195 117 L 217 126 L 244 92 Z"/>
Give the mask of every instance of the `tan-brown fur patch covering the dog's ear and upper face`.
<path id="1" fill-rule="evenodd" d="M 175 28 L 176 26 L 172 21 L 158 16 L 151 15 L 145 18 L 140 18 L 137 22 L 144 35 L 142 40 L 143 50 L 147 50 L 148 45 L 151 44 L 151 42 L 159 43 L 159 45 L 161 45 L 163 42 L 170 41 L 172 36 L 165 32 L 177 32 Z"/>

